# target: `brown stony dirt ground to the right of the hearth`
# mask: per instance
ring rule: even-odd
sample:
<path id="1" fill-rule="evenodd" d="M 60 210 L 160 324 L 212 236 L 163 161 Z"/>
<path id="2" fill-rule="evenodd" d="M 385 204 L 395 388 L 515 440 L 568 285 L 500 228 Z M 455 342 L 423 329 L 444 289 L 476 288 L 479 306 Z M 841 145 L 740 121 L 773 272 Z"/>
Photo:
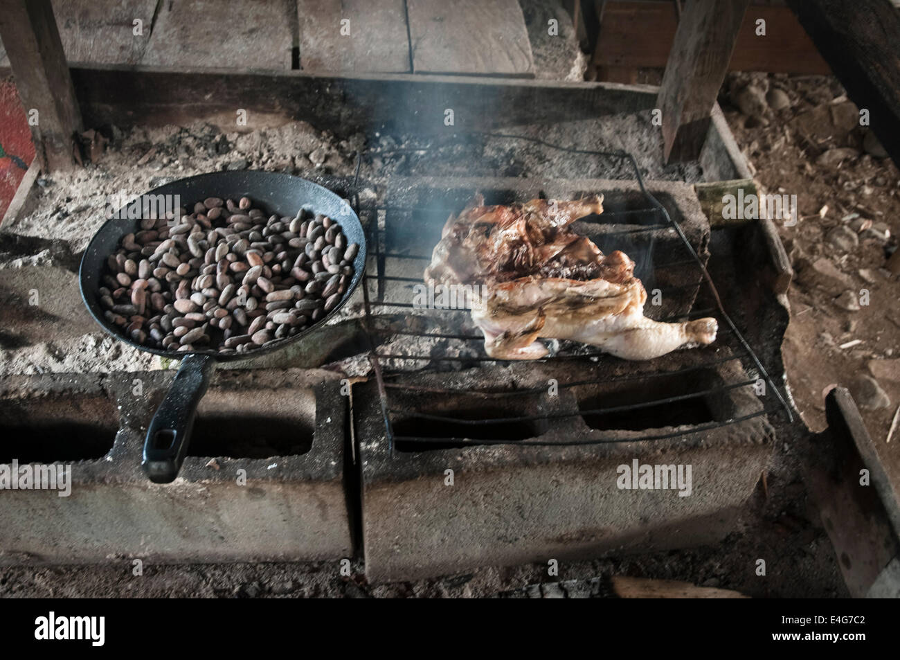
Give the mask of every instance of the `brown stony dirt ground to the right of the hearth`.
<path id="1" fill-rule="evenodd" d="M 734 75 L 720 102 L 757 184 L 797 195 L 796 226 L 779 225 L 795 269 L 782 354 L 797 409 L 822 430 L 825 393 L 849 387 L 900 484 L 900 433 L 887 442 L 900 405 L 900 257 L 888 269 L 900 172 L 831 77 Z"/>

